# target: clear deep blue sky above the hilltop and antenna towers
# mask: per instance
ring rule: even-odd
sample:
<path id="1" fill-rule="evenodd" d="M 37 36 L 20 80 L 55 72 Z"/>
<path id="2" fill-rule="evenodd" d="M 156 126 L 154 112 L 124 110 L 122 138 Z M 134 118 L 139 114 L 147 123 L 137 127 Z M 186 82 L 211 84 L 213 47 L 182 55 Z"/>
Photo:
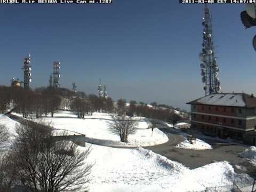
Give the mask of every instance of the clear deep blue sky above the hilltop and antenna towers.
<path id="1" fill-rule="evenodd" d="M 255 27 L 245 30 L 245 4 L 211 4 L 221 91 L 256 95 Z M 204 96 L 200 60 L 204 5 L 170 0 L 112 4 L 1 4 L 0 84 L 23 79 L 31 52 L 32 88 L 49 85 L 61 62 L 61 87 L 97 94 L 101 78 L 114 100 L 189 109 Z"/>

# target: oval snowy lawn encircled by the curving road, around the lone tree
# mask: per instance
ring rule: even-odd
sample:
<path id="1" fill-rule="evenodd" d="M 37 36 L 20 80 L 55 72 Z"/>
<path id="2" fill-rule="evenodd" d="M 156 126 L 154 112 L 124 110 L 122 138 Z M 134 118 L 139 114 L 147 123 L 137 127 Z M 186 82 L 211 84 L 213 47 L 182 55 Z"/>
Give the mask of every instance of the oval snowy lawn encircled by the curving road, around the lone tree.
<path id="1" fill-rule="evenodd" d="M 139 118 L 137 132 L 134 135 L 129 135 L 128 143 L 121 142 L 118 135 L 114 135 L 108 130 L 107 122 L 111 120 L 109 114 L 93 113 L 91 116 L 79 119 L 70 111 L 61 111 L 55 113 L 53 118 L 43 119 L 52 122 L 56 129 L 68 130 L 74 132 L 74 134 L 85 134 L 93 143 L 105 146 L 142 147 L 159 145 L 168 141 L 168 137 L 158 129 L 154 129 L 152 134 L 151 129 L 148 129 L 147 121 L 143 117 Z"/>

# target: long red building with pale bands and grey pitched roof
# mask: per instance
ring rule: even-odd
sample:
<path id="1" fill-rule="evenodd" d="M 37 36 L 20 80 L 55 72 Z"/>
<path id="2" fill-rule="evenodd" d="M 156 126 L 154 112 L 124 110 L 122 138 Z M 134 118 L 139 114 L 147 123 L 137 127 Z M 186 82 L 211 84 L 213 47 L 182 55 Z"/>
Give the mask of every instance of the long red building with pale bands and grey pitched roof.
<path id="1" fill-rule="evenodd" d="M 191 128 L 220 138 L 255 145 L 256 98 L 245 93 L 218 93 L 188 102 Z"/>

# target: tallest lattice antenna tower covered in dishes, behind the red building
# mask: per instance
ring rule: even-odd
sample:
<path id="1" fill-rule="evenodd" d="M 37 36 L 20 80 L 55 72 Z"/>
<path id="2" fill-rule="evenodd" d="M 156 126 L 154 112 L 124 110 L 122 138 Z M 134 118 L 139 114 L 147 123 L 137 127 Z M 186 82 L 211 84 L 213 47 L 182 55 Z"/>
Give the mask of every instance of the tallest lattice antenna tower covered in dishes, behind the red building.
<path id="1" fill-rule="evenodd" d="M 205 3 L 204 18 L 202 25 L 203 30 L 203 49 L 202 53 L 199 54 L 199 59 L 203 62 L 201 63 L 201 75 L 202 82 L 205 84 L 204 90 L 205 95 L 219 93 L 220 79 L 217 77 L 219 72 L 219 67 L 214 56 L 214 46 L 213 46 L 213 36 L 212 36 L 212 18 L 210 10 Z"/>

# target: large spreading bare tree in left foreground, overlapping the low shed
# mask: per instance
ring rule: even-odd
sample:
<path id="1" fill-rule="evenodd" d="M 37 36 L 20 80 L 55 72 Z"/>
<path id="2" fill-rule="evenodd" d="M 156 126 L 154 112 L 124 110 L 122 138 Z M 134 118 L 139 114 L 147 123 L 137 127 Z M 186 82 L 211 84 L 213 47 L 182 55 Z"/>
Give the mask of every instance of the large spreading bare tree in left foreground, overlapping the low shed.
<path id="1" fill-rule="evenodd" d="M 26 191 L 84 191 L 92 165 L 71 141 L 55 139 L 46 124 L 26 122 L 17 126 L 17 137 L 11 154 L 18 168 L 18 179 Z"/>

